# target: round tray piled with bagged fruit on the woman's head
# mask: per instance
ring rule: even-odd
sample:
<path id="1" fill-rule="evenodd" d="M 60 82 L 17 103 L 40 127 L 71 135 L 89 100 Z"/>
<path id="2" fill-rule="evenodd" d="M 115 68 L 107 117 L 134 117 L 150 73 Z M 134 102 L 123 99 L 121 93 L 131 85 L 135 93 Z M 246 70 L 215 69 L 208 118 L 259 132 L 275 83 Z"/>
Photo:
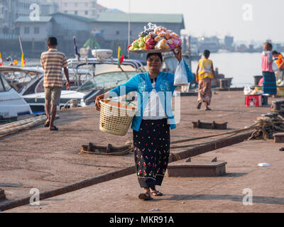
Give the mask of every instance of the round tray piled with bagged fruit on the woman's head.
<path id="1" fill-rule="evenodd" d="M 129 52 L 170 52 L 182 45 L 180 36 L 167 28 L 148 23 L 137 40 L 129 45 Z"/>

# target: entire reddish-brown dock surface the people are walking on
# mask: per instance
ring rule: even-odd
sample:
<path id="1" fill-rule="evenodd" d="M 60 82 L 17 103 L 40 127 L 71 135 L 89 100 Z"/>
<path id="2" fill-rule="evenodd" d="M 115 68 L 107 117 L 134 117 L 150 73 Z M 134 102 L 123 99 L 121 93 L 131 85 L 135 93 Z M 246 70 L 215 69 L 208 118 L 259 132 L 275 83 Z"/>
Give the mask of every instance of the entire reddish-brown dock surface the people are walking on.
<path id="1" fill-rule="evenodd" d="M 270 105 L 247 108 L 243 92 L 214 92 L 211 108 L 213 111 L 197 110 L 197 97 L 181 97 L 181 121 L 171 131 L 171 141 L 206 137 L 231 132 L 251 126 L 262 114 L 267 114 Z M 271 101 L 278 99 L 269 99 Z M 31 128 L 0 138 L 0 188 L 4 189 L 9 204 L 23 199 L 30 190 L 40 193 L 76 184 L 111 172 L 133 167 L 133 154 L 124 156 L 87 155 L 80 153 L 82 145 L 94 143 L 115 147 L 132 141 L 132 131 L 118 137 L 99 131 L 99 113 L 94 107 L 60 111 L 55 122 L 58 132 L 50 132 L 43 126 Z M 192 121 L 228 122 L 225 131 L 193 128 Z M 244 131 L 245 135 L 251 131 Z M 236 135 L 238 136 L 238 135 Z M 180 143 L 214 143 L 228 136 L 203 138 L 202 140 Z M 235 141 L 236 142 L 236 141 Z M 229 145 L 229 144 L 228 144 Z M 191 147 L 198 148 L 200 145 Z M 284 159 L 282 144 L 273 140 L 251 140 L 236 143 L 211 152 L 194 155 L 194 160 L 211 161 L 213 157 L 227 162 L 223 177 L 166 177 L 163 187 L 165 194 L 153 201 L 138 199 L 142 190 L 136 175 L 129 175 L 92 187 L 61 194 L 40 201 L 40 206 L 19 206 L 6 212 L 283 212 Z M 189 148 L 178 148 L 171 153 L 182 153 Z M 206 150 L 204 150 L 206 152 Z M 271 167 L 258 167 L 268 162 Z M 244 206 L 244 189 L 253 192 L 253 206 Z M 72 204 L 76 204 L 73 206 Z"/>

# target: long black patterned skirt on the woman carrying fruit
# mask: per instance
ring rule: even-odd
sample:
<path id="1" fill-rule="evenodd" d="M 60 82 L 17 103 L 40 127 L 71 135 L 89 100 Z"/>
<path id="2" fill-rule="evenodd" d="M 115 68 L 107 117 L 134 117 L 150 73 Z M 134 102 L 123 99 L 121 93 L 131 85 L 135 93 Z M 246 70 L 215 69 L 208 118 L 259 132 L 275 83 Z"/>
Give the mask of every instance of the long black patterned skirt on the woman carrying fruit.
<path id="1" fill-rule="evenodd" d="M 138 182 L 142 188 L 162 185 L 170 157 L 168 119 L 143 120 L 140 130 L 133 131 Z"/>

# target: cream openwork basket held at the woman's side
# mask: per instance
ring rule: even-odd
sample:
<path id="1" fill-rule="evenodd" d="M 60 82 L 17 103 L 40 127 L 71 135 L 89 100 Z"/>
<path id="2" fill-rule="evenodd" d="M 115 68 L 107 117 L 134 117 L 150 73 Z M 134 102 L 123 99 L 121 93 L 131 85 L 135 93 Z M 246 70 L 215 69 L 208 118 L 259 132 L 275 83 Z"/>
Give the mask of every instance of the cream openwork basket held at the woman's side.
<path id="1" fill-rule="evenodd" d="M 99 130 L 111 135 L 126 135 L 136 114 L 136 106 L 129 104 L 126 109 L 119 107 L 119 102 L 110 100 L 101 100 L 99 103 L 101 104 Z"/>

